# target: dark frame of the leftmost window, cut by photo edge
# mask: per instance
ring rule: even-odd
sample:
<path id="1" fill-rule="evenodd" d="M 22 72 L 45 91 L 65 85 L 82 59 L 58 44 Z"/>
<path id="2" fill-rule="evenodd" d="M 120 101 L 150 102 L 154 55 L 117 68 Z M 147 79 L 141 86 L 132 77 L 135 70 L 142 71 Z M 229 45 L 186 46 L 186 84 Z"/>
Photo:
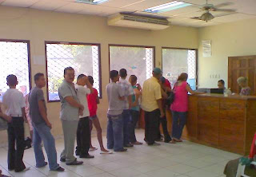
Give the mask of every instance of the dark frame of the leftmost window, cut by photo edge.
<path id="1" fill-rule="evenodd" d="M 6 41 L 6 42 L 23 42 L 26 43 L 27 45 L 27 62 L 28 62 L 28 71 L 29 71 L 29 85 L 30 85 L 30 90 L 32 88 L 32 82 L 31 82 L 31 56 L 30 56 L 30 40 L 22 40 L 22 39 L 2 39 L 0 38 L 0 41 Z"/>

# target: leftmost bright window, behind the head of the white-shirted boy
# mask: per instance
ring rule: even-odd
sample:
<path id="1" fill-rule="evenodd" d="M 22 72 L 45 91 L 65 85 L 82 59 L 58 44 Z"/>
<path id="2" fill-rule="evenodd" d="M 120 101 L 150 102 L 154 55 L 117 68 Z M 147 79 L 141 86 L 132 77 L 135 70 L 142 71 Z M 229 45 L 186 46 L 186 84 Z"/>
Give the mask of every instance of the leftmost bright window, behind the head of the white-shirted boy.
<path id="1" fill-rule="evenodd" d="M 9 88 L 6 77 L 14 74 L 18 78 L 17 88 L 25 96 L 30 92 L 29 41 L 0 40 L 0 94 Z M 2 100 L 2 96 L 0 96 Z"/>

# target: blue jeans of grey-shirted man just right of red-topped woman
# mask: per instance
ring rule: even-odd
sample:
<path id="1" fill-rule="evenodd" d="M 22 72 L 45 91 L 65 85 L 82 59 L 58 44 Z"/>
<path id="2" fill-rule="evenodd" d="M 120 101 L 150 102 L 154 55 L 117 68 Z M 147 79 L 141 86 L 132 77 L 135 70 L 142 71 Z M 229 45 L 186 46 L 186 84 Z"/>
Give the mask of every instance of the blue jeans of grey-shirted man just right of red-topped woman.
<path id="1" fill-rule="evenodd" d="M 107 148 L 114 151 L 122 150 L 123 148 L 123 120 L 122 114 L 118 116 L 107 115 Z"/>

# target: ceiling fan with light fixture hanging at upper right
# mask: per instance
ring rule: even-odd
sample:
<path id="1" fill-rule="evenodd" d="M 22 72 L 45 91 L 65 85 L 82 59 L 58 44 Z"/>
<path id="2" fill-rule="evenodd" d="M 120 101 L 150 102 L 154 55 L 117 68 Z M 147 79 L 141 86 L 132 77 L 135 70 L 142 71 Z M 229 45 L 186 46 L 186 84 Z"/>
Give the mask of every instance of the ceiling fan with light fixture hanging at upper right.
<path id="1" fill-rule="evenodd" d="M 222 16 L 225 16 L 227 14 L 224 14 L 224 15 L 217 15 L 217 16 L 214 16 L 213 14 L 210 14 L 210 11 L 213 11 L 213 12 L 226 12 L 226 13 L 230 13 L 230 14 L 234 14 L 236 12 L 236 10 L 234 9 L 219 9 L 221 8 L 222 6 L 229 6 L 233 4 L 232 2 L 224 2 L 224 3 L 221 3 L 221 4 L 218 4 L 216 6 L 214 6 L 213 4 L 208 4 L 208 0 L 206 0 L 206 4 L 203 5 L 201 8 L 200 8 L 200 11 L 206 11 L 205 13 L 203 13 L 200 17 L 194 17 L 192 19 L 195 19 L 195 20 L 202 20 L 202 21 L 210 21 L 214 18 L 218 18 L 218 17 L 222 17 Z"/>

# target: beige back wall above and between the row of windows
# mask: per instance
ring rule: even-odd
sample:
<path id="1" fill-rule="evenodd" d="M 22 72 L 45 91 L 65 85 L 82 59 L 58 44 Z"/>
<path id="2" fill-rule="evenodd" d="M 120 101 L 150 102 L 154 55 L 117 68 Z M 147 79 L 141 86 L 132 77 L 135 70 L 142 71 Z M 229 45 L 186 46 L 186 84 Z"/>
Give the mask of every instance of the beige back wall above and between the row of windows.
<path id="1" fill-rule="evenodd" d="M 105 88 L 109 82 L 108 44 L 154 45 L 156 65 L 161 66 L 162 46 L 198 48 L 198 30 L 171 26 L 168 30 L 134 30 L 106 25 L 106 18 L 61 14 L 54 12 L 0 6 L 0 38 L 30 40 L 33 57 L 45 55 L 44 41 L 75 41 L 101 43 L 102 47 L 102 100 L 98 116 L 106 128 L 107 100 Z M 46 73 L 45 65 L 32 65 L 34 73 Z M 44 89 L 46 95 L 46 88 Z M 62 134 L 59 103 L 47 104 L 49 119 L 55 136 Z M 6 142 L 6 132 L 0 132 L 0 144 Z"/>

